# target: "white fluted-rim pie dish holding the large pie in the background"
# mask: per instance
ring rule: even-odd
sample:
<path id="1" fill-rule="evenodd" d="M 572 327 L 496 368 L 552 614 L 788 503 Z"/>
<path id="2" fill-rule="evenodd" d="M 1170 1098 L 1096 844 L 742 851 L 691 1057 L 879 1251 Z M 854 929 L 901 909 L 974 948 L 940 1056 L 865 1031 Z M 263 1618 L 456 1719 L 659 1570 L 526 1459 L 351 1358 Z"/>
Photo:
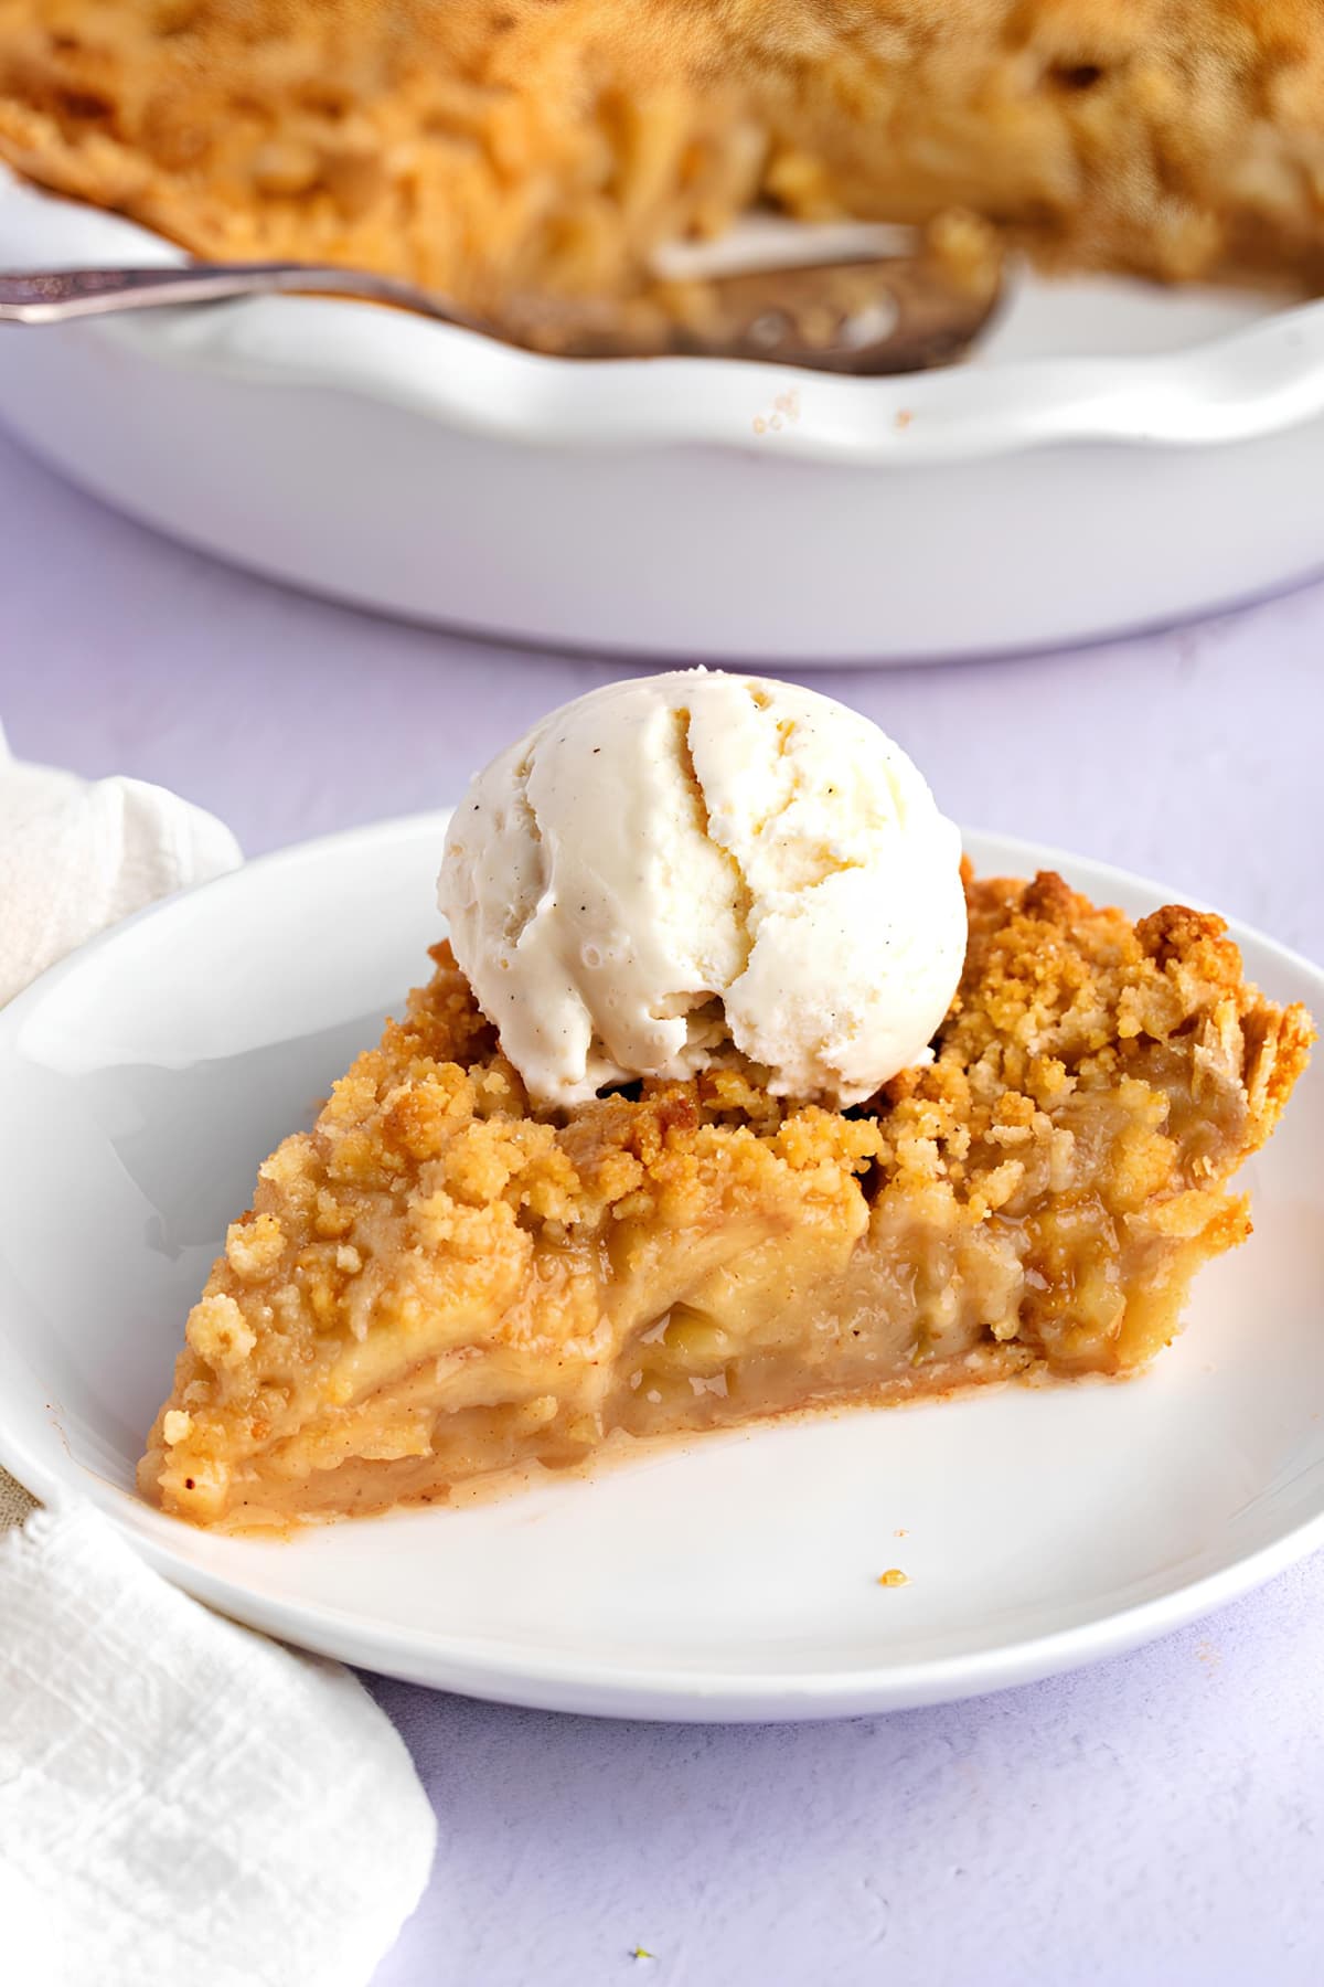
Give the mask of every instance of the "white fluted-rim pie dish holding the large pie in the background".
<path id="1" fill-rule="evenodd" d="M 0 266 L 173 258 L 0 169 Z M 975 362 L 905 380 L 540 360 L 262 298 L 6 332 L 0 419 L 238 564 L 544 646 L 935 660 L 1324 566 L 1324 304 L 1249 294 L 1024 278 Z"/>

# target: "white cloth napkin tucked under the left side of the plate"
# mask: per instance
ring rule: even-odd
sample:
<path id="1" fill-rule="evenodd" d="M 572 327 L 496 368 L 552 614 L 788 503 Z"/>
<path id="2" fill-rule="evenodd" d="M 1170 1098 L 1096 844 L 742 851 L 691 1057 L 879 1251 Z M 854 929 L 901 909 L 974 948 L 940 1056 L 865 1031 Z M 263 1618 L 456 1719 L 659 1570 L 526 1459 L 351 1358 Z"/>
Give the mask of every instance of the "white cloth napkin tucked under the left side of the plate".
<path id="1" fill-rule="evenodd" d="M 238 860 L 177 795 L 20 765 L 0 731 L 0 1001 Z M 91 1506 L 18 1528 L 30 1510 L 0 1470 L 0 1977 L 365 1987 L 435 1848 L 387 1717 L 167 1586 Z"/>

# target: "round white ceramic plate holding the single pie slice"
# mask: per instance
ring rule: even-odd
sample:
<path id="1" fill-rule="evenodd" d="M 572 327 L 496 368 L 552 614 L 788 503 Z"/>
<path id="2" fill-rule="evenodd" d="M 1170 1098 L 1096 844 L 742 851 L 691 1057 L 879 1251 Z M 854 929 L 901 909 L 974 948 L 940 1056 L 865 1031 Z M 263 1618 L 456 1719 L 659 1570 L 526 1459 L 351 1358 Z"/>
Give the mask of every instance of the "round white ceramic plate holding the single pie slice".
<path id="1" fill-rule="evenodd" d="M 599 1478 L 294 1542 L 149 1510 L 133 1464 L 254 1168 L 437 936 L 443 821 L 310 842 L 121 926 L 0 1017 L 0 1460 L 290 1641 L 554 1709 L 826 1717 L 1092 1661 L 1324 1542 L 1324 1071 L 1255 1164 L 1255 1240 L 1129 1385 L 705 1437 Z M 1133 910 L 1179 894 L 1062 866 Z M 1324 976 L 1239 934 L 1280 999 Z M 899 1566 L 905 1588 L 879 1588 Z"/>

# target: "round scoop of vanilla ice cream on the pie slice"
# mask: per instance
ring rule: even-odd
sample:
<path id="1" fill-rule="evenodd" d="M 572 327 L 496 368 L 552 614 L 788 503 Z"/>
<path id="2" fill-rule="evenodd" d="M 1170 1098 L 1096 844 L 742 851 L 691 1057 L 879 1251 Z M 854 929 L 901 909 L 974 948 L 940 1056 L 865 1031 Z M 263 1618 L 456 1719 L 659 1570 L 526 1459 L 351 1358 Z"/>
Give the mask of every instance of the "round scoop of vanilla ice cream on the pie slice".
<path id="1" fill-rule="evenodd" d="M 834 1107 L 929 1059 L 965 960 L 961 839 L 877 725 L 794 684 L 609 684 L 500 753 L 439 878 L 540 1103 L 734 1043 Z"/>

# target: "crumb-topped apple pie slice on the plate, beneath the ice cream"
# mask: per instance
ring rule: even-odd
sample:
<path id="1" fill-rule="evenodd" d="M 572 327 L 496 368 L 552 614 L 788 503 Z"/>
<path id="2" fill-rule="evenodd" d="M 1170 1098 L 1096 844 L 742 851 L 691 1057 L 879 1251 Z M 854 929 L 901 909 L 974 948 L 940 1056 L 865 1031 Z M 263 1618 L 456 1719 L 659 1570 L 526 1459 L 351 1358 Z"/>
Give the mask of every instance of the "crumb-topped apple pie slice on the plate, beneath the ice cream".
<path id="1" fill-rule="evenodd" d="M 967 882 L 931 1067 L 846 1115 L 730 1055 L 534 1113 L 447 946 L 260 1168 L 189 1317 L 145 1494 L 195 1522 L 433 1500 L 605 1439 L 1122 1373 L 1249 1234 L 1227 1178 L 1310 1019 L 1221 920 Z"/>

